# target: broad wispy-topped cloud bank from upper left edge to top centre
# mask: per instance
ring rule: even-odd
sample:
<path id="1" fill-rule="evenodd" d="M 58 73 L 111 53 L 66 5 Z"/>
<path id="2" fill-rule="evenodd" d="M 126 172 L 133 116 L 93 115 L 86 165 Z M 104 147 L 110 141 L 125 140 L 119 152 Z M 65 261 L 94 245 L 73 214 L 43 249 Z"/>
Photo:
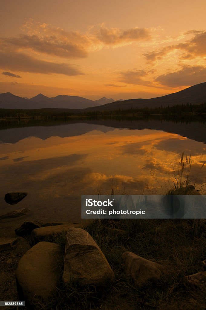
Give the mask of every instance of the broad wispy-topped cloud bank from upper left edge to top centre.
<path id="1" fill-rule="evenodd" d="M 15 48 L 33 50 L 38 53 L 64 58 L 84 58 L 89 51 L 104 47 L 119 47 L 136 41 L 151 38 L 147 28 L 106 28 L 103 25 L 90 27 L 85 33 L 65 31 L 51 24 L 41 24 L 32 19 L 26 21 L 21 33 L 16 38 L 1 38 L 1 45 L 6 49 Z"/>

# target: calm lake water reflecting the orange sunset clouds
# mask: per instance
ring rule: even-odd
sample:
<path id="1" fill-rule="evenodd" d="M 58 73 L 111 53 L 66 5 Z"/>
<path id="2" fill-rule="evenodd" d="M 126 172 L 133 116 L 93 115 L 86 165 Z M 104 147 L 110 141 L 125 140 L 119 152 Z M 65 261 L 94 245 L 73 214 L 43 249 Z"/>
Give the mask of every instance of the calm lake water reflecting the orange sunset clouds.
<path id="1" fill-rule="evenodd" d="M 193 180 L 206 183 L 206 124 L 85 120 L 0 130 L 0 213 L 28 207 L 40 221 L 81 219 L 81 195 L 158 194 L 191 154 Z M 198 175 L 199 173 L 199 175 Z M 198 175 L 198 176 L 197 176 Z M 205 189 L 205 186 L 203 187 Z M 28 192 L 9 206 L 4 195 Z"/>

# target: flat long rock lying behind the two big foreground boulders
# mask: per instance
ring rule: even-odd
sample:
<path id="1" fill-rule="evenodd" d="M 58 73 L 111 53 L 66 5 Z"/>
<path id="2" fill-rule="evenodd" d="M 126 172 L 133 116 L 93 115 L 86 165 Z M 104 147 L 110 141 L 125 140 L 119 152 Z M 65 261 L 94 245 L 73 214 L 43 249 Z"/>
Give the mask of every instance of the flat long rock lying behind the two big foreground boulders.
<path id="1" fill-rule="evenodd" d="M 55 225 L 55 226 L 46 226 L 36 228 L 32 231 L 31 237 L 33 244 L 36 244 L 40 241 L 48 240 L 49 237 L 52 237 L 61 232 L 67 232 L 70 227 L 81 227 L 81 224 L 63 224 L 63 225 Z"/>

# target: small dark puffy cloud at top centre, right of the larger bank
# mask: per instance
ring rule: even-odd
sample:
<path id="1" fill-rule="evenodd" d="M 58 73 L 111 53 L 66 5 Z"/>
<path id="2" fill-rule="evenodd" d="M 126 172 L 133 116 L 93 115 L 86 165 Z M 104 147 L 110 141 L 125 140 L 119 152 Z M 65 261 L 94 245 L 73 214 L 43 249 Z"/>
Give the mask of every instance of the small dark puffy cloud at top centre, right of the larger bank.
<path id="1" fill-rule="evenodd" d="M 106 45 L 115 45 L 122 42 L 135 42 L 140 40 L 150 39 L 150 32 L 146 28 L 131 28 L 131 29 L 119 29 L 119 28 L 100 28 L 95 33 L 96 38 Z"/>

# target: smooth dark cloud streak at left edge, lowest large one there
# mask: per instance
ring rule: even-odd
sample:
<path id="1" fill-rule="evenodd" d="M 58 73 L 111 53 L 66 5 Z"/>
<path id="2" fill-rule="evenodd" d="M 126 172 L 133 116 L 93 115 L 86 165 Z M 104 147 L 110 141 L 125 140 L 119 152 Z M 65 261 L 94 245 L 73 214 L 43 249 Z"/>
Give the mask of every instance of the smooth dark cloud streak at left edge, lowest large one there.
<path id="1" fill-rule="evenodd" d="M 22 53 L 0 52 L 0 67 L 20 72 L 35 72 L 43 74 L 58 73 L 68 76 L 83 74 L 77 67 L 65 64 L 39 60 Z"/>

